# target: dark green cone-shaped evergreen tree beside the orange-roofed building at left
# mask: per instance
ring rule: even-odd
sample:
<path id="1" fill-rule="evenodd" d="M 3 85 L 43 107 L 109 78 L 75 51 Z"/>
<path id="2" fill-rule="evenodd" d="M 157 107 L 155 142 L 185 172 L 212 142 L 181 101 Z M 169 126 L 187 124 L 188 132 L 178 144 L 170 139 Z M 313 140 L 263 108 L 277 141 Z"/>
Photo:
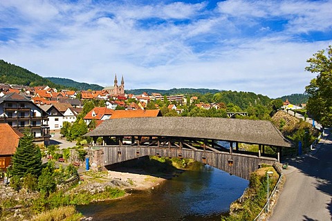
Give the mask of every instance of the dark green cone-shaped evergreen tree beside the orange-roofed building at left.
<path id="1" fill-rule="evenodd" d="M 33 135 L 29 131 L 24 132 L 24 137 L 19 140 L 14 155 L 12 156 L 12 175 L 24 177 L 30 173 L 38 176 L 42 171 L 42 153 L 38 146 L 33 144 Z"/>

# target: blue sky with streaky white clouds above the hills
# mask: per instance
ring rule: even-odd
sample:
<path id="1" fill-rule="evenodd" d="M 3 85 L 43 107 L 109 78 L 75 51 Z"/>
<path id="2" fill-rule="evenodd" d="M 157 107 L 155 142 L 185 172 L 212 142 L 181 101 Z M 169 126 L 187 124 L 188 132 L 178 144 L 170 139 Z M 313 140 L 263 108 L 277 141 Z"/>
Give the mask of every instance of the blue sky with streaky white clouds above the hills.
<path id="1" fill-rule="evenodd" d="M 0 1 L 0 59 L 125 88 L 303 93 L 332 1 Z"/>

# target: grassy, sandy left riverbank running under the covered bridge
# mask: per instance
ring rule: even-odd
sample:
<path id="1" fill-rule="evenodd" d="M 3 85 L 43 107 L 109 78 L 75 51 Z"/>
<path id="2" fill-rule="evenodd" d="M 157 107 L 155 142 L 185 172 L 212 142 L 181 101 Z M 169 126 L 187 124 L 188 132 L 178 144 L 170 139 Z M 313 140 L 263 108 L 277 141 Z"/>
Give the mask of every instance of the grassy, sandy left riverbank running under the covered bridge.
<path id="1" fill-rule="evenodd" d="M 136 171 L 84 172 L 80 174 L 82 180 L 77 178 L 69 183 L 61 181 L 49 195 L 1 186 L 6 194 L 1 193 L 0 220 L 81 220 L 82 214 L 76 211 L 75 205 L 121 198 L 126 195 L 125 189 L 151 188 L 180 173 L 178 169 L 185 168 L 191 161 L 147 157 L 136 163 L 137 167 L 131 167 Z M 52 171 L 53 179 L 63 180 L 59 179 L 58 173 L 62 174 L 66 169 L 60 167 Z"/>

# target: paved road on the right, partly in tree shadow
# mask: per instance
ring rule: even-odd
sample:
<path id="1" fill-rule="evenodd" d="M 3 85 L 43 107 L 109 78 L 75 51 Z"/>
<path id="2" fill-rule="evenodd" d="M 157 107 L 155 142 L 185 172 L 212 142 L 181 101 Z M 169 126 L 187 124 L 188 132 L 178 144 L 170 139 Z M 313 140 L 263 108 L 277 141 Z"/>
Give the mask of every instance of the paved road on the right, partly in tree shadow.
<path id="1" fill-rule="evenodd" d="M 289 160 L 286 182 L 270 221 L 332 220 L 332 135 L 331 129 L 309 155 Z"/>

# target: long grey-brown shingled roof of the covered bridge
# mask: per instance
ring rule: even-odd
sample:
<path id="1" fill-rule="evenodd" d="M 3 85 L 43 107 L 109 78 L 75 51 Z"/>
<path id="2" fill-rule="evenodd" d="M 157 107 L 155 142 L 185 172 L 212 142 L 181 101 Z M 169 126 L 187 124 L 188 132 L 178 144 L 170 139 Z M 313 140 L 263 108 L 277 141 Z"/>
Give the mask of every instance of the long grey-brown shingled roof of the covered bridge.
<path id="1" fill-rule="evenodd" d="M 291 147 L 293 144 L 269 121 L 219 117 L 140 117 L 106 119 L 85 136 L 162 136 L 206 138 Z"/>

